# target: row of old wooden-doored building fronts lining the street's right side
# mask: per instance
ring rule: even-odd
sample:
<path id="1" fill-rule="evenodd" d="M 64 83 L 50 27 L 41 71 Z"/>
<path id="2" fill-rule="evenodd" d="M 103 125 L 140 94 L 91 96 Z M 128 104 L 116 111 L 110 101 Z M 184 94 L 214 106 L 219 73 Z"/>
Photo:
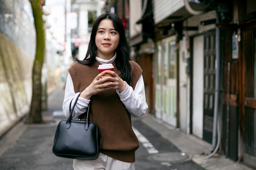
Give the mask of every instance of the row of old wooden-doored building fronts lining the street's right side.
<path id="1" fill-rule="evenodd" d="M 153 11 L 154 30 L 149 34 L 154 35 L 155 51 L 151 65 L 144 67 L 151 67 L 153 77 L 150 113 L 207 141 L 212 150 L 256 167 L 255 1 L 129 2 L 130 11 L 136 5 L 141 8 L 132 11 L 141 17 L 130 17 L 130 27 L 148 26 L 143 21 L 150 12 L 141 11 Z M 138 30 L 137 35 L 130 31 L 130 46 L 140 57 L 148 42 Z"/>

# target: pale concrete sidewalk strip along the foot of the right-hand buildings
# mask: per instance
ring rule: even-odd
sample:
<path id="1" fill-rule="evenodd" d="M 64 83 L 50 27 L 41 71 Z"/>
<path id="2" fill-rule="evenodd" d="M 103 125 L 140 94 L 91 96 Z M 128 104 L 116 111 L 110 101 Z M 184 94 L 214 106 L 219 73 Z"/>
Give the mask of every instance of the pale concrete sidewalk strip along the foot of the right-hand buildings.
<path id="1" fill-rule="evenodd" d="M 192 160 L 206 170 L 253 170 L 242 163 L 236 163 L 231 159 L 227 159 L 225 155 L 215 154 L 213 157 L 205 159 L 207 155 L 211 154 L 211 144 L 193 135 L 188 135 L 180 130 L 171 128 L 153 115 L 146 114 L 139 119 L 182 152 L 191 153 L 193 155 Z"/>

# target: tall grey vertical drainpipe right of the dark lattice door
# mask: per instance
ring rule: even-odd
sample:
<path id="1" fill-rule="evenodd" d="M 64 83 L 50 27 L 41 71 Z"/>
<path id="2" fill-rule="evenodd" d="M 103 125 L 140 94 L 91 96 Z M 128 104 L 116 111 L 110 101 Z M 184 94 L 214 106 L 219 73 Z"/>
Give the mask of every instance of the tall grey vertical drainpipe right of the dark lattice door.
<path id="1" fill-rule="evenodd" d="M 217 11 L 216 11 L 217 12 Z M 220 22 L 220 15 L 216 14 L 216 23 Z M 208 159 L 212 157 L 220 146 L 220 117 L 218 117 L 219 111 L 219 91 L 220 91 L 220 28 L 216 28 L 216 78 L 215 78 L 215 99 L 214 99 L 214 115 L 213 115 L 213 139 L 212 145 L 215 147 L 213 152 L 205 157 Z M 218 137 L 217 137 L 218 135 Z M 217 141 L 218 139 L 218 141 Z M 217 141 L 217 144 L 216 144 Z"/>

